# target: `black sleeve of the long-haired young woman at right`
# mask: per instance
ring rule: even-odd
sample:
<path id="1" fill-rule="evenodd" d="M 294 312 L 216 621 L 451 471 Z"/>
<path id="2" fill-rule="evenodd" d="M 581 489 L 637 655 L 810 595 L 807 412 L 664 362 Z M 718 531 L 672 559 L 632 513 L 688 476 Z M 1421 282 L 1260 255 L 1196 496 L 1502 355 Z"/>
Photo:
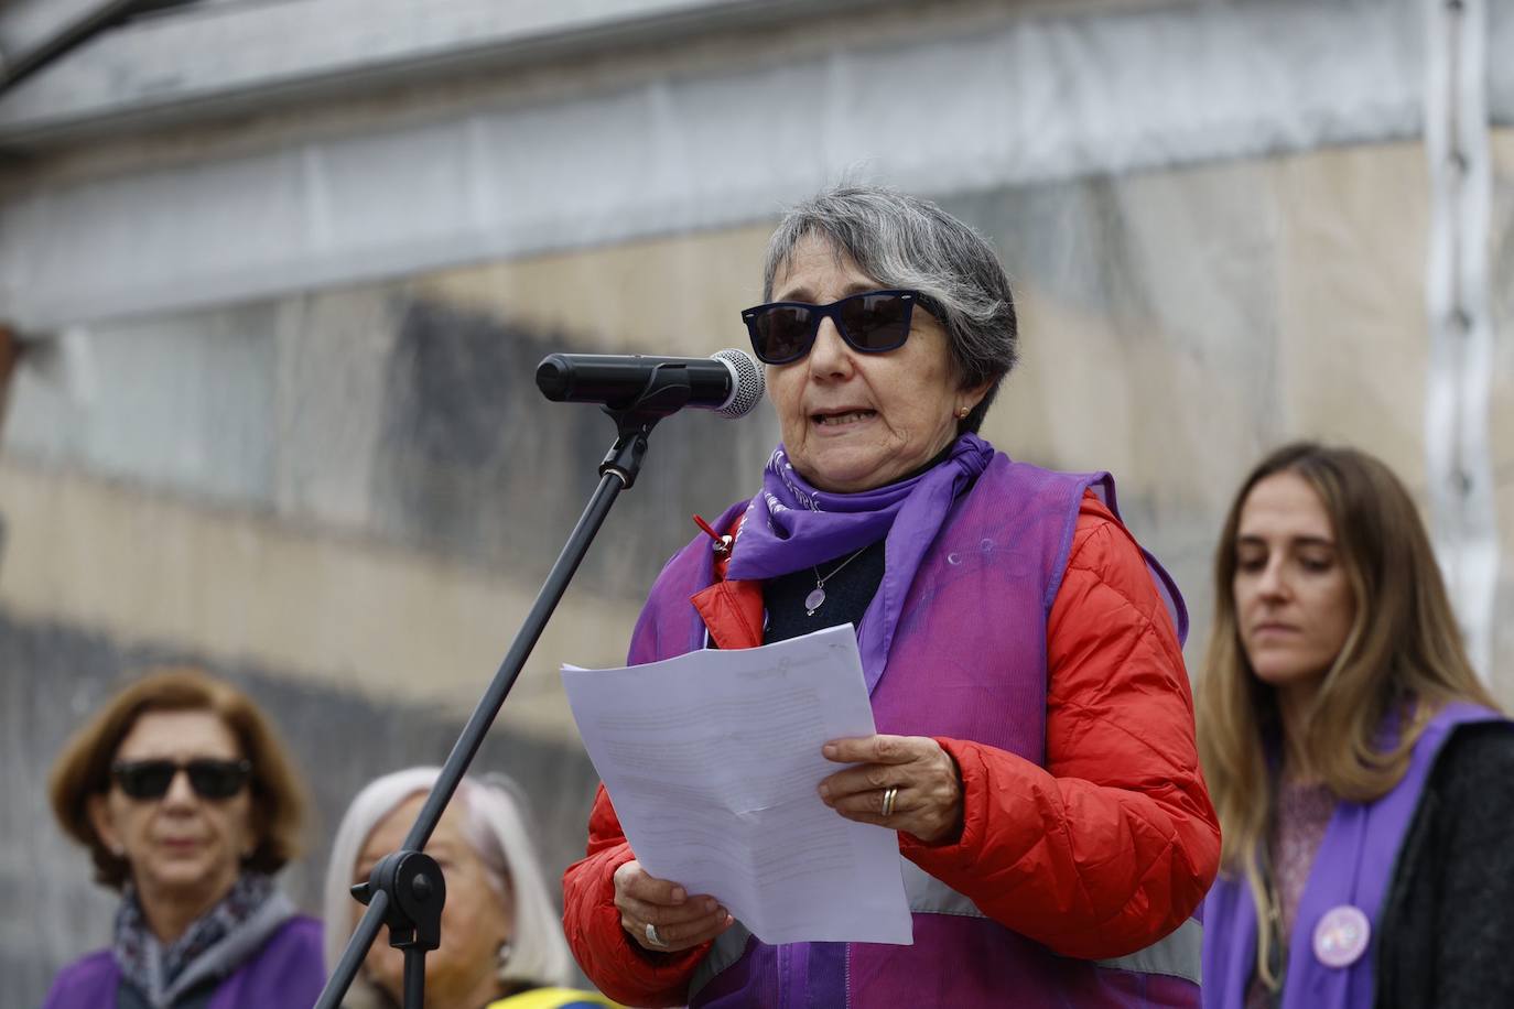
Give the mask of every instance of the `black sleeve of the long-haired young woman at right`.
<path id="1" fill-rule="evenodd" d="M 1382 906 L 1378 1009 L 1514 1006 L 1514 726 L 1467 725 L 1425 782 Z"/>

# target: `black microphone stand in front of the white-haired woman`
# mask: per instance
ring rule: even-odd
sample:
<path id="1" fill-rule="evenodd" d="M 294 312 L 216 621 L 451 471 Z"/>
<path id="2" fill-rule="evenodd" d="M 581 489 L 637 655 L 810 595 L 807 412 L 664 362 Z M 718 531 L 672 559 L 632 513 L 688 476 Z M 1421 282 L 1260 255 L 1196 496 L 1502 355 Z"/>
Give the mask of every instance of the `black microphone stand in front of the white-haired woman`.
<path id="1" fill-rule="evenodd" d="M 404 950 L 404 1009 L 425 1006 L 425 955 L 441 945 L 442 905 L 447 900 L 447 880 L 442 870 L 422 852 L 430 840 L 442 811 L 462 784 L 468 765 L 472 764 L 483 738 L 504 705 L 510 687 L 521 675 L 525 660 L 547 628 L 553 610 L 568 590 L 589 545 L 610 513 L 616 496 L 636 483 L 646 442 L 653 427 L 666 416 L 681 410 L 690 396 L 687 369 L 659 366 L 653 369 L 646 387 L 624 404 L 609 404 L 604 411 L 615 421 L 616 437 L 604 461 L 600 463 L 600 486 L 589 498 L 553 564 L 536 602 L 515 635 L 509 654 L 500 663 L 494 681 L 478 700 L 462 735 L 453 744 L 436 784 L 431 787 L 421 812 L 416 814 L 404 846 L 374 865 L 366 883 L 353 886 L 353 897 L 368 905 L 353 938 L 342 952 L 342 959 L 321 989 L 315 1009 L 338 1009 L 347 989 L 351 988 L 357 970 L 368 956 L 368 947 L 378 936 L 378 929 L 389 926 L 389 945 Z"/>

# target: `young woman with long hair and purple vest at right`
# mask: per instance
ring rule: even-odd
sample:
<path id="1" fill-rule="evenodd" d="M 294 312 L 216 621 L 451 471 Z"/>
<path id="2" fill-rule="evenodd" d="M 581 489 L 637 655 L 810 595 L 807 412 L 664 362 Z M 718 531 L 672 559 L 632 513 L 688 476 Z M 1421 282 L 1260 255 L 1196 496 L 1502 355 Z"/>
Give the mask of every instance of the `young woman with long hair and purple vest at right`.
<path id="1" fill-rule="evenodd" d="M 1514 1004 L 1514 732 L 1381 461 L 1296 443 L 1246 478 L 1198 717 L 1205 1006 Z"/>

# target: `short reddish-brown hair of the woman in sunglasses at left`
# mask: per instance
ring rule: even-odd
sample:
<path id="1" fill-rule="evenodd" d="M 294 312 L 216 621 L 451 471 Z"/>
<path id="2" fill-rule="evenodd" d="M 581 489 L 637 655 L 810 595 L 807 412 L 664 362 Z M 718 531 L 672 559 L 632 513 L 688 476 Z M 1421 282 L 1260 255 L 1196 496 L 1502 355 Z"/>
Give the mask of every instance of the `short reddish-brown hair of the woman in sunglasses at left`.
<path id="1" fill-rule="evenodd" d="M 121 740 L 148 711 L 209 711 L 236 737 L 253 765 L 253 830 L 257 847 L 244 865 L 276 873 L 300 853 L 304 823 L 304 787 L 273 725 L 251 697 L 198 669 L 148 670 L 115 694 L 64 747 L 48 776 L 53 814 L 64 832 L 89 849 L 95 879 L 117 889 L 130 877 L 130 865 L 115 855 L 89 818 L 89 799 L 111 791 L 111 762 Z"/>

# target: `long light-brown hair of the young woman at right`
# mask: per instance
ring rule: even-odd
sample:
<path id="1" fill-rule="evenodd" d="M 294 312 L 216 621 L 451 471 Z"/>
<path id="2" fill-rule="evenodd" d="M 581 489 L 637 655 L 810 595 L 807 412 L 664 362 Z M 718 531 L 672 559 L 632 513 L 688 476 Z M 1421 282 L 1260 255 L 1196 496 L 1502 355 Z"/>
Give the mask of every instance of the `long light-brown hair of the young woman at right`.
<path id="1" fill-rule="evenodd" d="M 1260 923 L 1276 911 L 1258 852 L 1276 803 L 1269 744 L 1282 726 L 1270 687 L 1254 673 L 1235 616 L 1235 539 L 1252 489 L 1294 473 L 1319 495 L 1355 601 L 1355 619 L 1325 673 L 1304 738 L 1290 740 L 1340 799 L 1372 802 L 1397 785 L 1425 723 L 1450 700 L 1497 708 L 1478 681 L 1414 501 L 1378 458 L 1311 442 L 1267 455 L 1241 483 L 1214 552 L 1214 625 L 1195 696 L 1199 756 L 1220 818 L 1220 871 L 1241 873 Z M 1384 747 L 1384 719 L 1402 731 Z M 1272 933 L 1258 929 L 1257 971 L 1269 965 Z"/>

